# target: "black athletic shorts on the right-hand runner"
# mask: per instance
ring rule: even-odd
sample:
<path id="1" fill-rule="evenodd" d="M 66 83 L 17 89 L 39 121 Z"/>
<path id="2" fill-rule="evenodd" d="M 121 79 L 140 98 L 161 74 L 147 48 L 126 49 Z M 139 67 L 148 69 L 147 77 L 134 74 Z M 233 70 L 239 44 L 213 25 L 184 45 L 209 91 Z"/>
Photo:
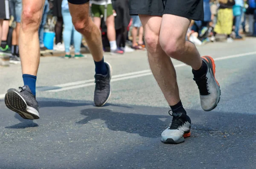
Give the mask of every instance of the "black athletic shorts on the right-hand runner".
<path id="1" fill-rule="evenodd" d="M 130 15 L 138 14 L 173 14 L 192 20 L 204 20 L 204 0 L 130 0 Z"/>

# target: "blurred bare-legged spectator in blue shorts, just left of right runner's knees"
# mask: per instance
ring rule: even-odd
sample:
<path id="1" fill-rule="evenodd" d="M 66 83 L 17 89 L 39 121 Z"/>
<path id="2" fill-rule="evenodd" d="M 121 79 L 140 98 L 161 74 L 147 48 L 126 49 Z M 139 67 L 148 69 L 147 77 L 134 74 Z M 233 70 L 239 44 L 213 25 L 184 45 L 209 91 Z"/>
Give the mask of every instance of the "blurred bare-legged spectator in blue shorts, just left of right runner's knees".
<path id="1" fill-rule="evenodd" d="M 140 17 L 139 16 L 131 16 L 132 18 L 132 30 L 131 30 L 131 35 L 132 35 L 132 48 L 133 49 L 144 49 L 145 44 L 143 42 L 143 27 L 140 22 Z M 137 35 L 139 32 L 139 40 L 137 43 Z"/>

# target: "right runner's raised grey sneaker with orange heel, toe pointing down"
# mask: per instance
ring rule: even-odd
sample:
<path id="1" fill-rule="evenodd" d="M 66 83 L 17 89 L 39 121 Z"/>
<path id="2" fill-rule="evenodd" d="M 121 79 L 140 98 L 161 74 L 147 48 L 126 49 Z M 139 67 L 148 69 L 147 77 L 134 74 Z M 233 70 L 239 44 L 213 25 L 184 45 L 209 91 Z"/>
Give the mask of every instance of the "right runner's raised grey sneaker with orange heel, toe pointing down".
<path id="1" fill-rule="evenodd" d="M 220 101 L 221 89 L 215 79 L 215 63 L 212 57 L 203 56 L 203 62 L 208 66 L 207 73 L 200 78 L 194 78 L 200 93 L 201 106 L 204 111 L 211 111 Z"/>

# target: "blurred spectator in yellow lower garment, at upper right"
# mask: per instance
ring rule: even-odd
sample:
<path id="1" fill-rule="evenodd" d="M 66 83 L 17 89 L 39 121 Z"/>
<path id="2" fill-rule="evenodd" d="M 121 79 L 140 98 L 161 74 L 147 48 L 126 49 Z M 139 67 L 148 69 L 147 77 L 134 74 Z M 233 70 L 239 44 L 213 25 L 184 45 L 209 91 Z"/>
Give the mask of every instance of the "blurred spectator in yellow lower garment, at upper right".
<path id="1" fill-rule="evenodd" d="M 233 27 L 233 5 L 235 0 L 219 0 L 217 23 L 214 28 L 214 35 L 226 34 L 228 43 L 233 42 L 230 37 Z"/>

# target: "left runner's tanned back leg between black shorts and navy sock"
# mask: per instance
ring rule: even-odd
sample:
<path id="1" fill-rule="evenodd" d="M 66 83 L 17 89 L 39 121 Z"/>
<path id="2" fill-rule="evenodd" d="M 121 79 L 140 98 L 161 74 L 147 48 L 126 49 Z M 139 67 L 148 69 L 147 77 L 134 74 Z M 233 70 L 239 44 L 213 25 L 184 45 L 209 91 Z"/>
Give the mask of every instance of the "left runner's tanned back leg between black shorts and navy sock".
<path id="1" fill-rule="evenodd" d="M 85 37 L 93 60 L 101 61 L 103 58 L 101 33 L 89 16 L 89 3 L 81 5 L 69 3 L 69 10 L 76 30 Z"/>

